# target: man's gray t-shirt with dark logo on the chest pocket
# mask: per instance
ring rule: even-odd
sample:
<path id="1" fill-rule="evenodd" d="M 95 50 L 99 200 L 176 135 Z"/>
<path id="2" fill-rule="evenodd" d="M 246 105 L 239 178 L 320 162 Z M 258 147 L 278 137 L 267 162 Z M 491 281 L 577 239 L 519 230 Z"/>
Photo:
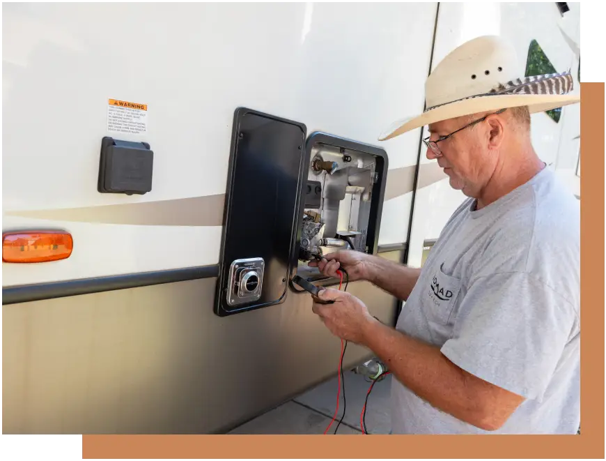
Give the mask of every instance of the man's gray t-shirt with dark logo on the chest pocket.
<path id="1" fill-rule="evenodd" d="M 465 199 L 446 223 L 396 328 L 526 400 L 487 432 L 394 379 L 393 433 L 575 434 L 580 204 L 547 168 L 483 209 L 474 202 Z"/>

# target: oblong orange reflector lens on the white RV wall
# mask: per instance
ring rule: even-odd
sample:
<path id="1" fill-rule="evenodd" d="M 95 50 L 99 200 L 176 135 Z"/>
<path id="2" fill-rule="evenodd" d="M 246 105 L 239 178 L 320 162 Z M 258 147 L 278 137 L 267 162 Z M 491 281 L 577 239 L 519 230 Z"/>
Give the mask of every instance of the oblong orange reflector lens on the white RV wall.
<path id="1" fill-rule="evenodd" d="M 59 261 L 70 257 L 73 246 L 67 232 L 7 232 L 2 234 L 2 262 Z"/>

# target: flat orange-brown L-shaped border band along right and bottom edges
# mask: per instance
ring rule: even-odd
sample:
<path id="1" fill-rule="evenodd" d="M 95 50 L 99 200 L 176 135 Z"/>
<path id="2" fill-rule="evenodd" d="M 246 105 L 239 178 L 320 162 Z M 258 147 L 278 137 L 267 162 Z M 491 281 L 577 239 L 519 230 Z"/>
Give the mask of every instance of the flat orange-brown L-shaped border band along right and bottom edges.
<path id="1" fill-rule="evenodd" d="M 240 458 L 547 458 L 605 456 L 604 448 L 604 170 L 605 84 L 584 82 L 581 104 L 582 174 L 581 434 L 364 437 L 342 435 L 85 435 L 85 459 Z"/>

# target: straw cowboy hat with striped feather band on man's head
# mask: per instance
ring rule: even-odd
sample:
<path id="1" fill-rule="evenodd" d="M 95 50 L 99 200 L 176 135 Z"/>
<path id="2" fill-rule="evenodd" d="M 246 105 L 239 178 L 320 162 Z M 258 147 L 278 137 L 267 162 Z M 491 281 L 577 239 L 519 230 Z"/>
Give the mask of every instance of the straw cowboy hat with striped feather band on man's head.
<path id="1" fill-rule="evenodd" d="M 499 36 L 469 40 L 450 52 L 425 84 L 423 114 L 397 121 L 380 135 L 391 139 L 407 131 L 458 116 L 528 106 L 532 113 L 580 102 L 570 70 L 523 77 L 513 46 Z"/>

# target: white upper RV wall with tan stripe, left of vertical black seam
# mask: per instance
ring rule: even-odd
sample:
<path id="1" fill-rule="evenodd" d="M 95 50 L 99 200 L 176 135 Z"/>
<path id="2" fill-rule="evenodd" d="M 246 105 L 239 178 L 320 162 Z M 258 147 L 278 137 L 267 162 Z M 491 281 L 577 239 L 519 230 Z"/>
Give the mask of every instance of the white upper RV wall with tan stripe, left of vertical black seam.
<path id="1" fill-rule="evenodd" d="M 0 52 L 10 64 L 0 77 L 3 228 L 61 227 L 75 242 L 66 261 L 3 267 L 3 286 L 216 264 L 235 108 L 378 144 L 384 126 L 423 110 L 436 9 L 414 0 L 3 4 L 0 38 L 17 44 Z M 132 27 L 143 16 L 145 27 Z M 145 132 L 108 130 L 110 99 L 145 104 Z M 146 195 L 97 191 L 105 135 L 150 144 Z M 379 243 L 401 243 L 418 133 L 384 147 L 406 181 Z"/>

